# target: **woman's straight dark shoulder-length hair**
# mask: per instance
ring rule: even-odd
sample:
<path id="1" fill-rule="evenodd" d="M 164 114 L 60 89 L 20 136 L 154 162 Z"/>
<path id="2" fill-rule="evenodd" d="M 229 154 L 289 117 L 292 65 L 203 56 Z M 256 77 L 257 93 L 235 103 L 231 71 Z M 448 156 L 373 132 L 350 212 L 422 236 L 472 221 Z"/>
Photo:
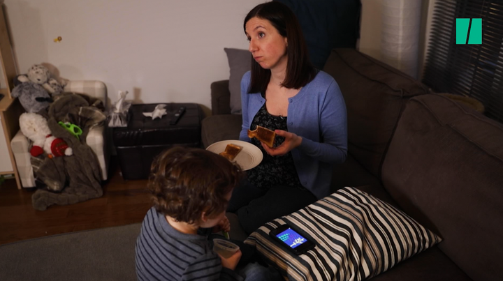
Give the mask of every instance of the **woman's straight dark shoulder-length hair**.
<path id="1" fill-rule="evenodd" d="M 268 20 L 277 29 L 279 34 L 286 37 L 288 46 L 286 54 L 288 63 L 286 76 L 282 86 L 288 89 L 299 89 L 311 82 L 316 76 L 316 69 L 309 61 L 307 45 L 302 36 L 302 29 L 296 15 L 290 8 L 277 1 L 261 3 L 249 11 L 245 17 L 243 29 L 246 33 L 246 24 L 252 17 Z M 270 70 L 263 69 L 253 58 L 251 59 L 251 81 L 248 93 L 265 92 L 270 80 Z"/>

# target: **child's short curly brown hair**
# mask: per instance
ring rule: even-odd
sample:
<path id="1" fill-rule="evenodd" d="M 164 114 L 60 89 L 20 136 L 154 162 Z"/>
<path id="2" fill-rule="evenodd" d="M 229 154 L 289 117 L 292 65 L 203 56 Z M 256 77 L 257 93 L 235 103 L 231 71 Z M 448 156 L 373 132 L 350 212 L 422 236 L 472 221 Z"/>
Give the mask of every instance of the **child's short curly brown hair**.
<path id="1" fill-rule="evenodd" d="M 152 163 L 148 188 L 154 207 L 179 222 L 200 222 L 227 208 L 225 196 L 238 185 L 238 165 L 204 149 L 175 146 Z"/>

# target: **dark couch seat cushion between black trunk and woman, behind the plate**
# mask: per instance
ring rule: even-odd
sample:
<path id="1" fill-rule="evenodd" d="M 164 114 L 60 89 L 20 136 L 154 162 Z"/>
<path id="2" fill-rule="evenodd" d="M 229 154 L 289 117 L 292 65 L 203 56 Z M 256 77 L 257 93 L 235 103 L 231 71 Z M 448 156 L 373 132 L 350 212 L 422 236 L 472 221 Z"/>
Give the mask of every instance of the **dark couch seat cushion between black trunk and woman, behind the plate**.
<path id="1" fill-rule="evenodd" d="M 227 139 L 239 139 L 242 116 L 240 114 L 213 115 L 203 119 L 201 138 L 206 148 L 214 142 Z"/>

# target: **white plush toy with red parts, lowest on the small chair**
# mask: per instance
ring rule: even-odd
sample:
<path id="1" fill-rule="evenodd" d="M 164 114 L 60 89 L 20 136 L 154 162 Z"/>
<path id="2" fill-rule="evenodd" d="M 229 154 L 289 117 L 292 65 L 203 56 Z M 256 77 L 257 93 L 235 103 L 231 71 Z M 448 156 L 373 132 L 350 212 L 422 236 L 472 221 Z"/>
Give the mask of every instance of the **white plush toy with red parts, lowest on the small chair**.
<path id="1" fill-rule="evenodd" d="M 63 139 L 51 135 L 47 120 L 40 114 L 21 114 L 20 128 L 23 135 L 34 142 L 30 150 L 30 154 L 34 157 L 44 151 L 49 158 L 73 154 L 71 147 L 68 147 Z"/>

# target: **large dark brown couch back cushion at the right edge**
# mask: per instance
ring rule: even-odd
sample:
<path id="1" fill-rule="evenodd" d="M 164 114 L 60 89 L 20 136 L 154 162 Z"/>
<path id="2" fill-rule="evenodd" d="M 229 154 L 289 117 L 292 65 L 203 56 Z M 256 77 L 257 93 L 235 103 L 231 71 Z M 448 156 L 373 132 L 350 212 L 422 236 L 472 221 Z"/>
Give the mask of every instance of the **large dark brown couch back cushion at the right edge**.
<path id="1" fill-rule="evenodd" d="M 503 125 L 439 95 L 411 99 L 384 160 L 386 190 L 444 238 L 439 248 L 473 280 L 503 261 Z"/>

